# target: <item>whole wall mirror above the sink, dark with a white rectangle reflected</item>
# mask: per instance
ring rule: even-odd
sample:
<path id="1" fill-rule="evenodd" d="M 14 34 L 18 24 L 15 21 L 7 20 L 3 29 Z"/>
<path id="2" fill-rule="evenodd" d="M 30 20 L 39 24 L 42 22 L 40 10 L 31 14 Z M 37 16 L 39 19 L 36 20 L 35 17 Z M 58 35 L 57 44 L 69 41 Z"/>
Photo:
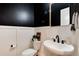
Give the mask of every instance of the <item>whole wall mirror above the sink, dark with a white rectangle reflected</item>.
<path id="1" fill-rule="evenodd" d="M 70 3 L 54 3 L 51 5 L 51 26 L 71 24 Z"/>

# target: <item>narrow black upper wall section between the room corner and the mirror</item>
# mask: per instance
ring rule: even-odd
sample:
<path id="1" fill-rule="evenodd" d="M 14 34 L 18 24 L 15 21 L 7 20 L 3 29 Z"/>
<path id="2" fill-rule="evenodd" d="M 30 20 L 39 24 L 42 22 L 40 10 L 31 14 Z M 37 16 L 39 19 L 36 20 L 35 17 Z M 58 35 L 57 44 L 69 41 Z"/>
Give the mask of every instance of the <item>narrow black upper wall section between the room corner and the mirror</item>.
<path id="1" fill-rule="evenodd" d="M 35 27 L 49 26 L 49 4 L 36 3 L 34 4 L 34 20 Z"/>

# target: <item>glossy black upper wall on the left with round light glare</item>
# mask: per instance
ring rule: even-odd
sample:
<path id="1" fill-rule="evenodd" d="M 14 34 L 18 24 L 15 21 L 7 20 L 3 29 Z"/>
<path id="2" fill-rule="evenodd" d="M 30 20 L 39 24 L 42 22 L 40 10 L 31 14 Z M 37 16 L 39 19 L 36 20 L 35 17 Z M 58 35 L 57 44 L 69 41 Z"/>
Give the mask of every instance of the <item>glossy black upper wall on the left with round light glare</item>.
<path id="1" fill-rule="evenodd" d="M 0 3 L 0 25 L 34 27 L 31 3 Z"/>

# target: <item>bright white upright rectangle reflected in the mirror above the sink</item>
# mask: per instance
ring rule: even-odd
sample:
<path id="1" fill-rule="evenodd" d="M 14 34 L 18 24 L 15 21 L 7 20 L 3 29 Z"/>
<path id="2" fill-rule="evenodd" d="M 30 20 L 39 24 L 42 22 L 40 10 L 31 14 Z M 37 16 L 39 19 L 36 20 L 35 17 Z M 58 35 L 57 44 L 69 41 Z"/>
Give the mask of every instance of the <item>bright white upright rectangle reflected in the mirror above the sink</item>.
<path id="1" fill-rule="evenodd" d="M 70 7 L 60 10 L 60 25 L 70 24 Z"/>

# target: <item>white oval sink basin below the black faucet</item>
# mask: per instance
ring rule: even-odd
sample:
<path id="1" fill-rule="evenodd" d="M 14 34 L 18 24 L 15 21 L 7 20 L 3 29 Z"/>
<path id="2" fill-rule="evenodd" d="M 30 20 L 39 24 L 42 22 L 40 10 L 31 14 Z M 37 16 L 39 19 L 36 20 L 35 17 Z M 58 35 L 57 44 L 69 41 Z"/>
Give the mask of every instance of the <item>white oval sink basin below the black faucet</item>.
<path id="1" fill-rule="evenodd" d="M 53 40 L 46 40 L 43 45 L 57 55 L 72 55 L 74 52 L 74 47 L 72 45 L 53 42 Z"/>

